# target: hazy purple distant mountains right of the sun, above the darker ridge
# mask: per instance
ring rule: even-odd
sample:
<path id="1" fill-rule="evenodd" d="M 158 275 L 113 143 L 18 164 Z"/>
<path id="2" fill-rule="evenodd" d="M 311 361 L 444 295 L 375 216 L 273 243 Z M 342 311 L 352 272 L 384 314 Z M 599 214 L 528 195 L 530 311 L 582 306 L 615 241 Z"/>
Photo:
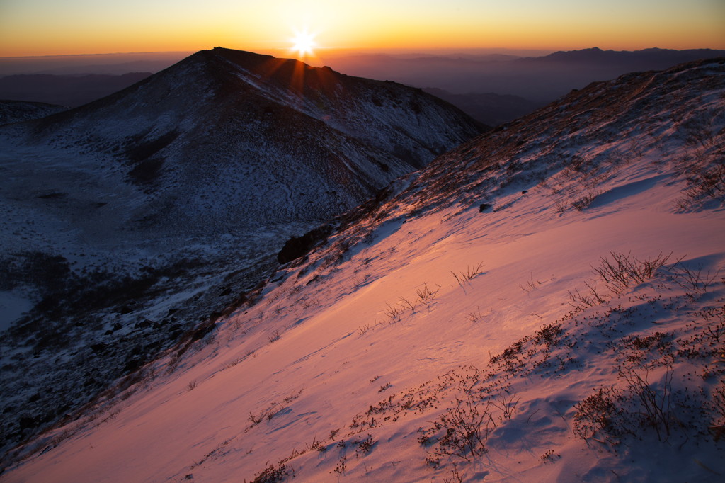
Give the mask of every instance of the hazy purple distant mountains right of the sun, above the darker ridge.
<path id="1" fill-rule="evenodd" d="M 495 93 L 547 103 L 595 80 L 646 70 L 662 70 L 682 62 L 725 56 L 713 49 L 645 49 L 559 51 L 543 57 L 355 55 L 330 62 L 351 75 L 434 87 L 452 94 Z"/>

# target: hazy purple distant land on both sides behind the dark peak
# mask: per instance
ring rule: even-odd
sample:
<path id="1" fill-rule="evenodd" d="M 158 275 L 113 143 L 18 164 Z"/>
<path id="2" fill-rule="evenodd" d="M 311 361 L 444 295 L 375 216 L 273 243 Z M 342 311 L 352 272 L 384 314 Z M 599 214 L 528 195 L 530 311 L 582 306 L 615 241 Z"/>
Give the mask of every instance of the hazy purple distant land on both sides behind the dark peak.
<path id="1" fill-rule="evenodd" d="M 312 65 L 347 75 L 394 80 L 424 88 L 485 125 L 529 114 L 574 88 L 629 72 L 662 70 L 682 62 L 725 55 L 723 50 L 592 48 L 550 54 L 514 51 L 438 51 L 433 54 L 320 52 Z M 289 57 L 289 51 L 275 52 Z M 528 54 L 528 55 L 524 55 Z M 130 86 L 178 62 L 182 53 L 0 59 L 0 99 L 76 107 Z M 148 70 L 148 72 L 143 72 Z"/>

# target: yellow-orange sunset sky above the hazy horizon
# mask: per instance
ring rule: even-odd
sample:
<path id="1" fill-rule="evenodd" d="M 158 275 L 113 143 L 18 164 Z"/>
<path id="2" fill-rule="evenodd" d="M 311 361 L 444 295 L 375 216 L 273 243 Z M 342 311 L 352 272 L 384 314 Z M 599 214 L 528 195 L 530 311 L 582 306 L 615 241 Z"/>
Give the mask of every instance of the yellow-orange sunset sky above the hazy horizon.
<path id="1" fill-rule="evenodd" d="M 725 49 L 725 0 L 0 0 L 0 57 L 357 49 Z"/>

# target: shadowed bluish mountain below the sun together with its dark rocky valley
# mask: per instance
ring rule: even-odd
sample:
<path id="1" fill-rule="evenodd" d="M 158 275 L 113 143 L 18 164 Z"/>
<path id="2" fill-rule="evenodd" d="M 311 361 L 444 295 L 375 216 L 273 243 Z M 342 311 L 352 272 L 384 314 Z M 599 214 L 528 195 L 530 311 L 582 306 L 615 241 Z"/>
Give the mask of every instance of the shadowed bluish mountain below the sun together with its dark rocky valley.
<path id="1" fill-rule="evenodd" d="M 2 126 L 3 444 L 218 317 L 286 239 L 477 133 L 414 88 L 219 48 Z"/>

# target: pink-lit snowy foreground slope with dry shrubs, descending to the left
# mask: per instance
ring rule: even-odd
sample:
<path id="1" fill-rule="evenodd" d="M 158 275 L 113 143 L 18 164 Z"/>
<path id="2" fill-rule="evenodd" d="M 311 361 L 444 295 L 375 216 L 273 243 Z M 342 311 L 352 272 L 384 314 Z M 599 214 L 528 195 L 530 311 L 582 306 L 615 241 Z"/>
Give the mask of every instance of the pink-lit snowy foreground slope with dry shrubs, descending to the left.
<path id="1" fill-rule="evenodd" d="M 0 480 L 720 479 L 724 86 L 625 75 L 444 154 Z"/>

